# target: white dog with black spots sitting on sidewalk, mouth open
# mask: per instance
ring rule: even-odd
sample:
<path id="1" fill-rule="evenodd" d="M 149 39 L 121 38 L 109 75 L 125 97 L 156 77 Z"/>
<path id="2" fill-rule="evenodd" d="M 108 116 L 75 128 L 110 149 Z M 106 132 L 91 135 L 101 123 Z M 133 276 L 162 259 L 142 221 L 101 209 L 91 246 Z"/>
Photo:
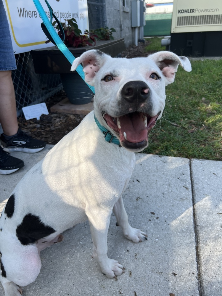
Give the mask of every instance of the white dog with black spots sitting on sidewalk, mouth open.
<path id="1" fill-rule="evenodd" d="M 134 152 L 148 145 L 148 134 L 162 115 L 165 86 L 186 57 L 157 52 L 118 59 L 89 50 L 76 58 L 85 81 L 95 86 L 94 112 L 55 145 L 17 184 L 0 219 L 1 283 L 6 296 L 22 294 L 38 276 L 40 251 L 62 240 L 61 233 L 89 220 L 93 254 L 108 278 L 124 267 L 107 257 L 112 210 L 133 242 L 147 235 L 131 227 L 122 193 L 131 177 Z"/>

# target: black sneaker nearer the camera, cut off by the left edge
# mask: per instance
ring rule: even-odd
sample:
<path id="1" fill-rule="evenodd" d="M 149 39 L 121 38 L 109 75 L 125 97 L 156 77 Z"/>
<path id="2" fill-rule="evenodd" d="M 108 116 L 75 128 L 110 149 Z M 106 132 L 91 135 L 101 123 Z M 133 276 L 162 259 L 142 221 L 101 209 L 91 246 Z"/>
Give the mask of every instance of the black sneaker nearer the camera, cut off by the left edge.
<path id="1" fill-rule="evenodd" d="M 24 166 L 24 162 L 16 157 L 11 156 L 0 146 L 0 174 L 8 175 L 14 173 Z"/>

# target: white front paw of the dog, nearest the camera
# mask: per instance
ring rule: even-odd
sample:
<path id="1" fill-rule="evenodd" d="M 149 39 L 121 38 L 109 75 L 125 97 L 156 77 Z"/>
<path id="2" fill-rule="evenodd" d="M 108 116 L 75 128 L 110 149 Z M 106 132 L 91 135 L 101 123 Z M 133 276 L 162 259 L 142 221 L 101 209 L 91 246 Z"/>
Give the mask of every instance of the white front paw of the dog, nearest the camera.
<path id="1" fill-rule="evenodd" d="M 125 272 L 125 268 L 118 263 L 118 261 L 107 258 L 105 262 L 99 262 L 102 273 L 107 276 L 107 278 L 112 279 L 116 276 L 120 276 Z"/>

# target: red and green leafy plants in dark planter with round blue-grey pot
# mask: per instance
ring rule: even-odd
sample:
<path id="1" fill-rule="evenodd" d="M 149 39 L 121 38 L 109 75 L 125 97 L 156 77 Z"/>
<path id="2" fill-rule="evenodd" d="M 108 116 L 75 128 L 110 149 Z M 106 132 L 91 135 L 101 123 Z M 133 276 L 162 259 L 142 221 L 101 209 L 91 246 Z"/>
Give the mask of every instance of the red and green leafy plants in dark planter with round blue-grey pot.
<path id="1" fill-rule="evenodd" d="M 59 26 L 53 23 L 61 36 Z M 74 18 L 61 23 L 64 33 L 64 43 L 69 47 L 74 57 L 79 57 L 91 46 L 115 57 L 125 49 L 124 38 L 113 40 L 114 28 L 99 28 L 85 30 L 82 34 Z M 79 74 L 70 71 L 70 63 L 57 48 L 45 50 L 33 50 L 31 52 L 36 73 L 59 73 L 64 90 L 69 101 L 73 104 L 87 104 L 91 101 L 93 93 Z"/>

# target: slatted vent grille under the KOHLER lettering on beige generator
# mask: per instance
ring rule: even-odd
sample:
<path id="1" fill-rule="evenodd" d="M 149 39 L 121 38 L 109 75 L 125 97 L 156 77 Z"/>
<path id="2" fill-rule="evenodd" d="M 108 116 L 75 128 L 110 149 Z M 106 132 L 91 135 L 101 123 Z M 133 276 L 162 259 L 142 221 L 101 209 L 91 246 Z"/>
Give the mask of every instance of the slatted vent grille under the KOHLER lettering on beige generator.
<path id="1" fill-rule="evenodd" d="M 191 15 L 177 17 L 177 26 L 221 25 L 222 15 Z"/>

